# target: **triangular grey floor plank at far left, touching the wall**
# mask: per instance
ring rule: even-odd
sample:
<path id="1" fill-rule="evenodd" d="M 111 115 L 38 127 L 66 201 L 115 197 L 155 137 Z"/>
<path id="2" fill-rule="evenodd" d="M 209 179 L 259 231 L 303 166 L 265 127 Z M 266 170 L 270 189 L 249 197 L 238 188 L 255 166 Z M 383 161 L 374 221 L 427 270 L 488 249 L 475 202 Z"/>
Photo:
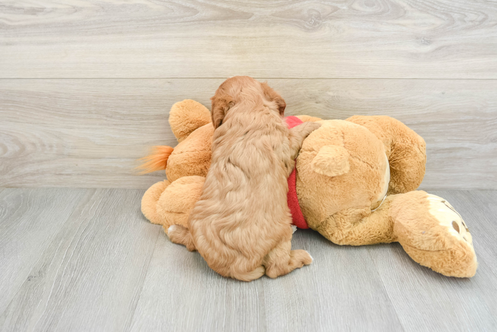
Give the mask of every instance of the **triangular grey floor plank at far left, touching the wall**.
<path id="1" fill-rule="evenodd" d="M 30 279 L 43 251 L 56 238 L 86 190 L 0 191 L 0 313 Z M 0 330 L 2 324 L 0 323 Z"/>

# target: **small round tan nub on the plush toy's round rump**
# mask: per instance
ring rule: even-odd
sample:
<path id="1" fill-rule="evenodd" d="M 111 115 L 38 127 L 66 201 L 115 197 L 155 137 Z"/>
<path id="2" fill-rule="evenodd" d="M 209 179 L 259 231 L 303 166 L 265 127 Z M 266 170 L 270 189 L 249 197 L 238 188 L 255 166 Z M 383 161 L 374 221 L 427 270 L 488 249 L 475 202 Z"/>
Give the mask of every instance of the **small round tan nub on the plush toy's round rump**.
<path id="1" fill-rule="evenodd" d="M 344 147 L 339 145 L 324 145 L 311 161 L 311 169 L 327 176 L 338 176 L 350 170 L 348 163 L 349 154 Z"/>

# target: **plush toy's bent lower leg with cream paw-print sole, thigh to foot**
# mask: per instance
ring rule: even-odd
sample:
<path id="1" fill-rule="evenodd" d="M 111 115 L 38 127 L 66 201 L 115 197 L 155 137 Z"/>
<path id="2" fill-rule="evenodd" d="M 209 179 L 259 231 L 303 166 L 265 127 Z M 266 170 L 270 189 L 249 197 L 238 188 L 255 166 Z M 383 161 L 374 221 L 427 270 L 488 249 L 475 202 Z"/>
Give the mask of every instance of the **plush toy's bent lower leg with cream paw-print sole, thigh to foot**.
<path id="1" fill-rule="evenodd" d="M 337 212 L 314 229 L 341 245 L 397 241 L 415 262 L 446 276 L 472 277 L 478 266 L 463 218 L 446 200 L 423 191 L 389 195 L 375 211 Z"/>

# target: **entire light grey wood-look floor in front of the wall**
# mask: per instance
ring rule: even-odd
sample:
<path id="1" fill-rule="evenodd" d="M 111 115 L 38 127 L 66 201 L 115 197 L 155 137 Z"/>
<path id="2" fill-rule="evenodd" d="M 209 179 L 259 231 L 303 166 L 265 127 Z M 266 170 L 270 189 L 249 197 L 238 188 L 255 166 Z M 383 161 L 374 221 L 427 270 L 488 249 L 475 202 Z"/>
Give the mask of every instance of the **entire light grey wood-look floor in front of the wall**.
<path id="1" fill-rule="evenodd" d="M 399 244 L 338 246 L 298 230 L 314 262 L 245 283 L 147 222 L 134 189 L 0 189 L 2 331 L 497 329 L 497 191 L 432 191 L 463 215 L 479 268 L 444 277 Z"/>

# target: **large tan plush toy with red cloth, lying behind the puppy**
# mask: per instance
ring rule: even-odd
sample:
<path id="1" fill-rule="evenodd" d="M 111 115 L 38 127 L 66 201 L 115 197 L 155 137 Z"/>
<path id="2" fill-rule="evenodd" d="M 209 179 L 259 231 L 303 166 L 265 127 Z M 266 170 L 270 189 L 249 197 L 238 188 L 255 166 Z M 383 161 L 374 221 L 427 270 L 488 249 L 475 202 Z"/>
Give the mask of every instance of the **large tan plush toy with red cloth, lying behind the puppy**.
<path id="1" fill-rule="evenodd" d="M 289 126 L 317 121 L 289 178 L 294 224 L 340 245 L 399 242 L 411 258 L 454 277 L 477 268 L 472 237 L 463 218 L 443 198 L 415 191 L 424 176 L 424 140 L 386 116 L 347 120 L 290 117 Z M 169 124 L 179 141 L 157 146 L 144 158 L 145 172 L 165 169 L 167 180 L 145 193 L 141 210 L 164 231 L 187 226 L 210 165 L 214 128 L 200 103 L 174 104 Z"/>

